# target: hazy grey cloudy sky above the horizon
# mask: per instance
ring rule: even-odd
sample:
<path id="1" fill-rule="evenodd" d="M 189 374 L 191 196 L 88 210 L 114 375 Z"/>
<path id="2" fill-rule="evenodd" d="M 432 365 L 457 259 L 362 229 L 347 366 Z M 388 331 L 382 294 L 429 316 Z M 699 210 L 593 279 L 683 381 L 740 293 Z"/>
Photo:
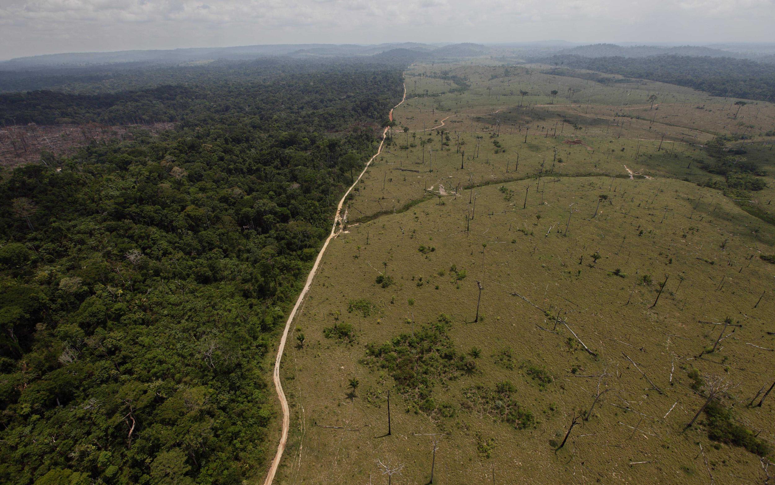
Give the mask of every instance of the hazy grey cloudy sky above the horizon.
<path id="1" fill-rule="evenodd" d="M 0 59 L 259 43 L 775 42 L 775 0 L 0 0 Z"/>

